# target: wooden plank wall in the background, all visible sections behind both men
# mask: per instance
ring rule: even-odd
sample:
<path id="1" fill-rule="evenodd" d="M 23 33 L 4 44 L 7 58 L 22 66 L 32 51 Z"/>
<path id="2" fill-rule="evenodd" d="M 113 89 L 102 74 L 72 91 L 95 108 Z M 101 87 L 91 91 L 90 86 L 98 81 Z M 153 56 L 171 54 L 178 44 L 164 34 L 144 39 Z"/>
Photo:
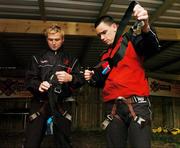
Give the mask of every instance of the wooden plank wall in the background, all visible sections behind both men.
<path id="1" fill-rule="evenodd" d="M 104 120 L 101 90 L 85 85 L 75 98 L 77 105 L 73 105 L 73 129 L 100 130 L 100 124 Z M 1 99 L 0 110 L 24 108 L 26 99 Z M 151 96 L 151 105 L 152 127 L 180 127 L 180 98 Z M 23 130 L 25 116 L 25 114 L 0 115 L 0 130 Z"/>

